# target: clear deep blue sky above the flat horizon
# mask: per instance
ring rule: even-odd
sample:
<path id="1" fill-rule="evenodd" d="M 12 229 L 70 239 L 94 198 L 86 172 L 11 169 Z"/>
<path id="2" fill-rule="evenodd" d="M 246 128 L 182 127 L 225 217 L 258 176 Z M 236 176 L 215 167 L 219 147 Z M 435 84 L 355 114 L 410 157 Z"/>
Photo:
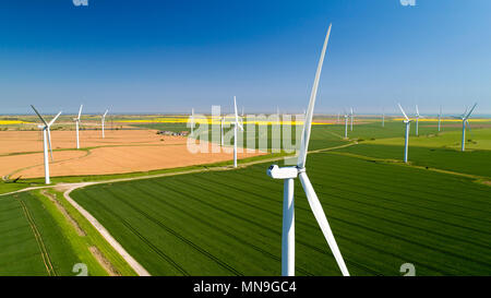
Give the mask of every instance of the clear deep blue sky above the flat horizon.
<path id="1" fill-rule="evenodd" d="M 0 114 L 300 112 L 333 23 L 316 112 L 491 114 L 491 1 L 2 1 Z"/>

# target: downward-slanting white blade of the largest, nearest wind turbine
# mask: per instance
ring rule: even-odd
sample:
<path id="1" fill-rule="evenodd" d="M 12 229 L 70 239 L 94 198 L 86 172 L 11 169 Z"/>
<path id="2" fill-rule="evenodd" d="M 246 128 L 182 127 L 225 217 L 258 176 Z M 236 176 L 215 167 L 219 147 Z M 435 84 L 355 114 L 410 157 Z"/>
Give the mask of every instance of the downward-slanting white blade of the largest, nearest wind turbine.
<path id="1" fill-rule="evenodd" d="M 322 233 L 324 234 L 325 240 L 333 252 L 334 259 L 336 259 L 337 265 L 342 271 L 344 276 L 349 276 L 348 269 L 346 267 L 345 260 L 343 260 L 343 255 L 340 254 L 339 248 L 337 247 L 336 239 L 334 239 L 333 231 L 331 230 L 330 224 L 327 222 L 327 217 L 325 216 L 324 210 L 322 208 L 321 202 L 319 201 L 318 195 L 312 187 L 312 183 L 309 180 L 307 174 L 299 174 L 300 182 L 302 183 L 303 190 L 306 191 L 307 200 L 309 201 L 310 208 L 318 220 L 319 226 L 321 227 Z"/>

